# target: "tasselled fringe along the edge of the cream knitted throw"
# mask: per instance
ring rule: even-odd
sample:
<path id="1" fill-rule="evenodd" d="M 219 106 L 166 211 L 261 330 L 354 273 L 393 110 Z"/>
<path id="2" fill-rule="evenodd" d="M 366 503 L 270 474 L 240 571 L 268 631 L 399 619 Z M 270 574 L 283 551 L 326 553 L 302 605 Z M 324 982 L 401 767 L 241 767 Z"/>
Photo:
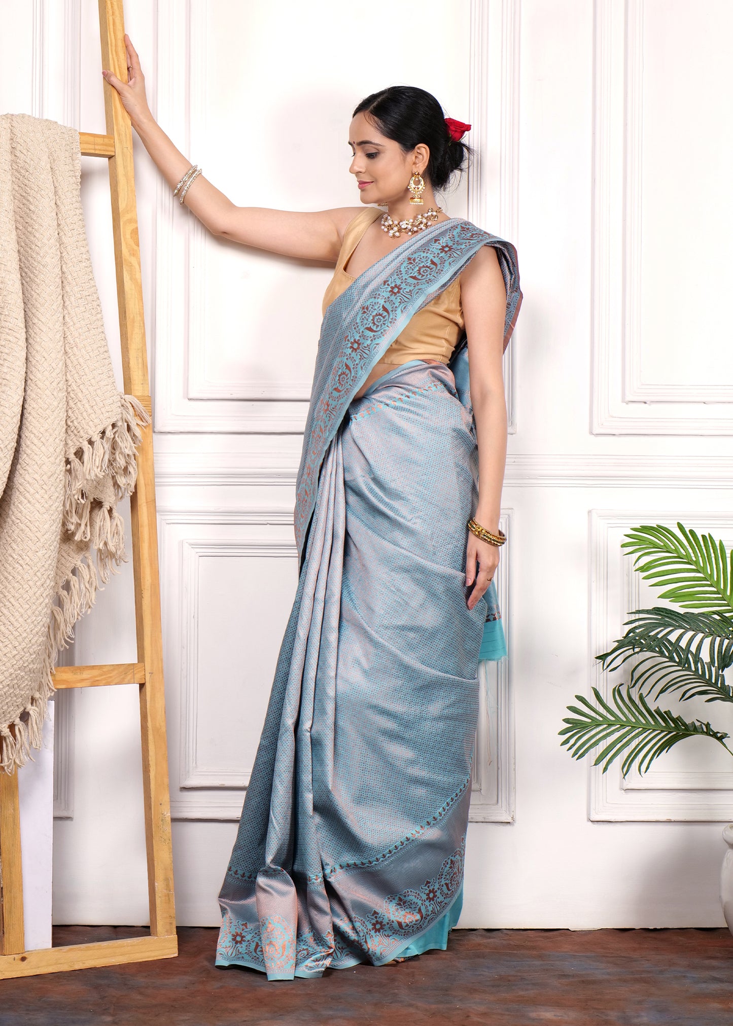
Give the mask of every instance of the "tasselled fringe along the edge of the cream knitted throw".
<path id="1" fill-rule="evenodd" d="M 121 396 L 121 417 L 98 438 L 88 440 L 67 460 L 64 528 L 77 541 L 89 541 L 90 552 L 72 567 L 51 606 L 38 688 L 20 715 L 0 726 L 0 770 L 13 773 L 40 748 L 48 699 L 54 692 L 52 674 L 59 652 L 69 647 L 77 620 L 94 604 L 97 592 L 126 560 L 124 521 L 114 506 L 89 500 L 85 488 L 111 474 L 118 499 L 129 495 L 138 477 L 136 448 L 142 441 L 139 425 L 150 417 L 132 395 Z M 93 554 L 97 555 L 97 565 Z"/>

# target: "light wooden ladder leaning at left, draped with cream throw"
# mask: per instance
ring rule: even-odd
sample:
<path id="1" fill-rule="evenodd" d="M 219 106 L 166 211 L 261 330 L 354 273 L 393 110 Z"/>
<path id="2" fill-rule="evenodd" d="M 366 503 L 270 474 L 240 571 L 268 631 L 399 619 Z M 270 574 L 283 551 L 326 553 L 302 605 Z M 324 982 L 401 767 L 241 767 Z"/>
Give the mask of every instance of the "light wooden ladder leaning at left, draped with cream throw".
<path id="1" fill-rule="evenodd" d="M 99 4 L 103 67 L 126 82 L 122 0 L 99 0 Z M 117 91 L 107 83 L 104 90 L 107 134 L 80 132 L 79 142 L 84 156 L 109 159 L 124 390 L 137 396 L 151 412 L 132 129 Z M 110 666 L 60 667 L 53 682 L 56 688 L 140 685 L 150 937 L 25 950 L 17 773 L 0 772 L 0 979 L 170 958 L 178 954 L 152 424 L 143 429 L 138 452 L 138 483 L 130 498 L 130 508 L 138 661 Z"/>

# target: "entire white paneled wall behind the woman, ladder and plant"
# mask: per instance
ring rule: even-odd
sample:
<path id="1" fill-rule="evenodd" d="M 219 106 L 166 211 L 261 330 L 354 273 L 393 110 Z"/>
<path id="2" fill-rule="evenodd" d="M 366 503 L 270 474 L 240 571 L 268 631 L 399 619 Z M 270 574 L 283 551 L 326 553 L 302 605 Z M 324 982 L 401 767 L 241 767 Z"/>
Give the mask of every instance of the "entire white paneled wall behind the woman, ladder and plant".
<path id="1" fill-rule="evenodd" d="M 355 204 L 350 112 L 385 84 L 428 88 L 473 124 L 477 164 L 443 205 L 517 245 L 525 304 L 505 368 L 510 655 L 483 676 L 461 924 L 722 924 L 725 753 L 690 742 L 623 781 L 571 760 L 557 732 L 575 694 L 611 685 L 593 657 L 653 599 L 623 532 L 684 519 L 733 544 L 731 6 L 425 0 L 419 27 L 414 13 L 408 0 L 125 3 L 160 123 L 237 203 Z M 3 109 L 102 130 L 95 3 L 35 0 L 9 25 Z M 177 903 L 182 923 L 215 924 L 295 593 L 294 483 L 331 270 L 209 237 L 139 142 L 136 162 Z M 105 175 L 85 160 L 116 353 Z M 130 602 L 126 566 L 74 658 L 133 658 Z M 105 690 L 59 702 L 59 921 L 146 915 L 133 688 Z"/>

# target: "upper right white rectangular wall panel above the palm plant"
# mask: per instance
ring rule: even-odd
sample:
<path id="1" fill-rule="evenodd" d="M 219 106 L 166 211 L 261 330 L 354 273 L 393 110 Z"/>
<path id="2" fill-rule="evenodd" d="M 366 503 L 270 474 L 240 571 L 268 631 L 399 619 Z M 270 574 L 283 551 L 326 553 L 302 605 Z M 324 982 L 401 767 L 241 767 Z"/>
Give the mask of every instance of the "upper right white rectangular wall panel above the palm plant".
<path id="1" fill-rule="evenodd" d="M 594 0 L 593 431 L 733 434 L 726 0 Z"/>

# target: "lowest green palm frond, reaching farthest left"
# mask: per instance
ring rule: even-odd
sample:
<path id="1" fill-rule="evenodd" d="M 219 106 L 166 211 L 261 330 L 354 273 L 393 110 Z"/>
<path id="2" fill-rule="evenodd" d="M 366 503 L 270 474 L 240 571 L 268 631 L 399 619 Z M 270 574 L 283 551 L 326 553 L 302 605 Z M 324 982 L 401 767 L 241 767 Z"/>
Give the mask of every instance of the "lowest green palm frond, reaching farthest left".
<path id="1" fill-rule="evenodd" d="M 604 773 L 624 749 L 628 749 L 621 773 L 625 777 L 635 762 L 639 772 L 644 774 L 659 755 L 692 737 L 712 738 L 733 755 L 725 743 L 727 734 L 715 731 L 700 719 L 689 723 L 668 709 L 652 709 L 644 695 L 632 694 L 630 684 L 618 684 L 613 688 L 613 706 L 604 700 L 597 687 L 593 687 L 593 696 L 600 708 L 582 695 L 575 696 L 582 708 L 568 706 L 568 711 L 576 716 L 565 718 L 563 722 L 568 725 L 558 734 L 565 736 L 562 745 L 567 745 L 576 759 L 605 745 L 593 762 L 599 765 L 605 760 Z"/>

